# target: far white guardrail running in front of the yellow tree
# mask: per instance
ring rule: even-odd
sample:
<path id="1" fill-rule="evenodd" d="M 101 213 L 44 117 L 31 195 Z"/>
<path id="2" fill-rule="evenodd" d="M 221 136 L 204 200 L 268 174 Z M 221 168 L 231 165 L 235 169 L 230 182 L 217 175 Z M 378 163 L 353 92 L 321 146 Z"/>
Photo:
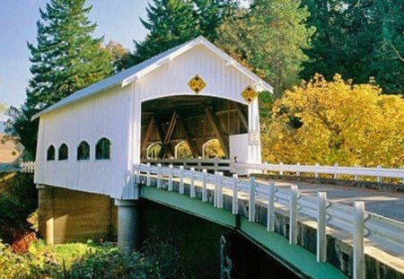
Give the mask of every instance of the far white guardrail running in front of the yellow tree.
<path id="1" fill-rule="evenodd" d="M 283 163 L 234 163 L 235 170 L 256 170 L 262 172 L 275 171 L 280 175 L 284 172 L 294 173 L 296 176 L 301 176 L 302 173 L 312 173 L 315 178 L 318 178 L 320 174 L 332 175 L 334 179 L 338 179 L 338 175 L 347 175 L 354 177 L 355 180 L 359 180 L 359 177 L 376 178 L 378 182 L 382 182 L 383 178 L 389 179 L 401 179 L 404 183 L 404 169 L 384 169 L 381 166 L 377 168 L 364 168 L 364 167 L 339 167 L 335 166 L 320 166 L 320 165 L 286 165 Z"/>

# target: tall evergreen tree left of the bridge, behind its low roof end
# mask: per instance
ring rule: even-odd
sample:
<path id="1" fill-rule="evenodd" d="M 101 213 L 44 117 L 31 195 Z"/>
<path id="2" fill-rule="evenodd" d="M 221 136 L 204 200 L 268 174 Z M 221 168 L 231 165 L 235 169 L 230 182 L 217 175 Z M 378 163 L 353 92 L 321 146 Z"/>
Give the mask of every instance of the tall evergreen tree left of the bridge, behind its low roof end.
<path id="1" fill-rule="evenodd" d="M 32 65 L 27 97 L 20 109 L 9 109 L 7 131 L 20 137 L 32 158 L 39 121 L 31 122 L 31 117 L 111 73 L 102 38 L 92 38 L 96 25 L 87 17 L 92 6 L 84 5 L 85 0 L 50 0 L 40 10 L 36 46 L 28 43 Z"/>

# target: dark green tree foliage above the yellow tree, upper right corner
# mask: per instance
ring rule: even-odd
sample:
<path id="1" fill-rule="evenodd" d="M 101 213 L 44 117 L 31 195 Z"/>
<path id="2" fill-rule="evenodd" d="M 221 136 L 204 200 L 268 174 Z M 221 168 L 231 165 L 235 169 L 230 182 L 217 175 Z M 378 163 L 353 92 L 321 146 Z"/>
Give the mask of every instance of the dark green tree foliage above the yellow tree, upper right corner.
<path id="1" fill-rule="evenodd" d="M 404 92 L 404 1 L 303 0 L 315 26 L 301 76 L 321 73 L 366 83 L 373 76 L 383 92 Z"/>

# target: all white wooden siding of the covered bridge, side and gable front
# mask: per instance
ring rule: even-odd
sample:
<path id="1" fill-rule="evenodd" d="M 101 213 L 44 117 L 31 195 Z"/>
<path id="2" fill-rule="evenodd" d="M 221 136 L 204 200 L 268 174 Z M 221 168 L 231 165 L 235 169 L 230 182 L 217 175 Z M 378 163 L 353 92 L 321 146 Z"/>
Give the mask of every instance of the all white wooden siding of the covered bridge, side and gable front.
<path id="1" fill-rule="evenodd" d="M 125 87 L 115 86 L 40 116 L 35 183 L 67 187 L 119 198 L 129 185 L 131 166 L 140 162 L 141 106 L 145 100 L 195 95 L 188 82 L 199 74 L 206 88 L 199 95 L 247 104 L 242 91 L 255 81 L 226 65 L 222 57 L 203 45 L 156 68 Z M 258 101 L 249 105 L 249 128 L 259 129 Z M 156 108 L 158 112 L 158 108 Z M 112 143 L 110 161 L 95 161 L 95 144 L 101 137 Z M 91 160 L 77 161 L 77 145 L 91 145 Z M 46 161 L 49 144 L 69 147 L 68 161 Z M 260 147 L 249 147 L 250 161 L 260 162 Z"/>

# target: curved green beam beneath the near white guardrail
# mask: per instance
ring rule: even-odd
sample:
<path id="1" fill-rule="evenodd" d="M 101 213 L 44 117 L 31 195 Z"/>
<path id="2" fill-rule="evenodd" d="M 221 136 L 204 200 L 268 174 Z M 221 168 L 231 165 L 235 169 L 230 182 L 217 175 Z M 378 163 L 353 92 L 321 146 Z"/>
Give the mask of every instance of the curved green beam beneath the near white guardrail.
<path id="1" fill-rule="evenodd" d="M 250 240 L 257 242 L 272 257 L 277 258 L 278 261 L 284 263 L 298 275 L 311 278 L 324 278 L 324 276 L 328 279 L 347 278 L 347 275 L 344 275 L 336 267 L 328 263 L 317 262 L 316 256 L 308 250 L 298 245 L 291 245 L 288 240 L 276 232 L 268 232 L 267 228 L 261 224 L 249 222 L 247 218 L 233 215 L 225 209 L 215 208 L 197 198 L 190 198 L 155 187 L 141 187 L 140 196 L 187 214 L 193 214 L 208 221 L 235 228 Z"/>

